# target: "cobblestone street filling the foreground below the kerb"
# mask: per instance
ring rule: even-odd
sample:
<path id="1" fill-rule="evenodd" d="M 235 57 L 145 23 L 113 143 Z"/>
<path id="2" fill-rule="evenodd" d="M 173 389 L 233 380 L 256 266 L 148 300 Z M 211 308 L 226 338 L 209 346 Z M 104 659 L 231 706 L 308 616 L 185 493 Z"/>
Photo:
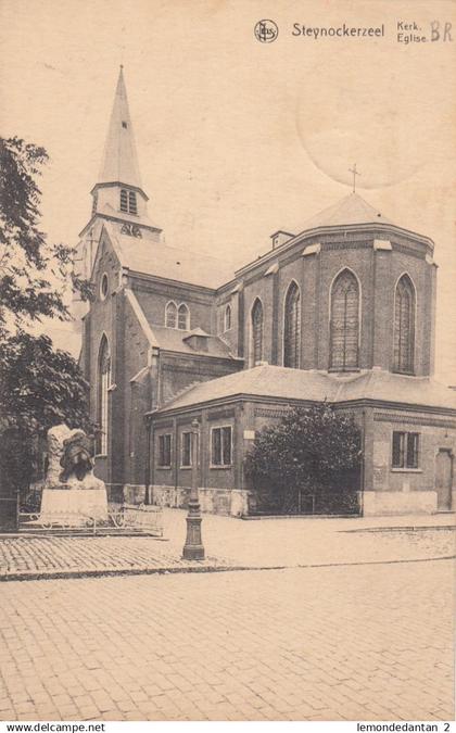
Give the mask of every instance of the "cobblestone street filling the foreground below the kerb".
<path id="1" fill-rule="evenodd" d="M 4 583 L 1 720 L 452 720 L 454 566 Z"/>

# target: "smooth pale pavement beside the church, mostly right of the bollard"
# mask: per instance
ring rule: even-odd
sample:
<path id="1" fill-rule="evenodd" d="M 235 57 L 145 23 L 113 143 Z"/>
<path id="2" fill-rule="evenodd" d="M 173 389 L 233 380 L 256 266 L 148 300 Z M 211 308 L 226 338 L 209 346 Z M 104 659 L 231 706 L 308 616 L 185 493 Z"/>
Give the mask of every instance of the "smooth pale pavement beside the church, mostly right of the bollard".
<path id="1" fill-rule="evenodd" d="M 411 560 L 456 552 L 455 515 L 449 514 L 264 520 L 204 515 L 202 528 L 211 555 L 248 567 Z M 185 511 L 165 513 L 165 535 L 178 552 L 185 540 Z"/>

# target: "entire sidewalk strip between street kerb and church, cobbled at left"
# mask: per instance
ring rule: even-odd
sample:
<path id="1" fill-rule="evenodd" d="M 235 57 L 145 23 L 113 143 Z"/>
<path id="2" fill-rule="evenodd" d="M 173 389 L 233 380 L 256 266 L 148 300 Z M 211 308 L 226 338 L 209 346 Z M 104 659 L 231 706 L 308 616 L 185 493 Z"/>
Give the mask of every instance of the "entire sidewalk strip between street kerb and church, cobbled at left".
<path id="1" fill-rule="evenodd" d="M 252 521 L 204 515 L 206 559 L 188 563 L 181 559 L 186 513 L 165 509 L 164 520 L 164 540 L 3 535 L 0 580 L 393 563 L 452 557 L 456 551 L 454 515 Z"/>

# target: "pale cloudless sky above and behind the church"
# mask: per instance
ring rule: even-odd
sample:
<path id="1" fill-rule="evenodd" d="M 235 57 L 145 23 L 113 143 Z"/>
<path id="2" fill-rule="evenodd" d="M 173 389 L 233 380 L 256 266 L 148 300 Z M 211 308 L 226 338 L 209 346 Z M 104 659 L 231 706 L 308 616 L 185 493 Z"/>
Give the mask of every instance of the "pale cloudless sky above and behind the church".
<path id="1" fill-rule="evenodd" d="M 279 35 L 261 43 L 254 26 Z M 454 41 L 400 43 L 397 23 Z M 381 38 L 293 36 L 384 25 Z M 246 263 L 351 191 L 435 242 L 436 377 L 456 384 L 456 11 L 413 0 L 0 0 L 0 134 L 42 144 L 43 228 L 90 216 L 119 64 L 149 215 L 166 242 Z M 49 328 L 49 325 L 47 326 Z M 77 353 L 71 330 L 58 345 Z"/>

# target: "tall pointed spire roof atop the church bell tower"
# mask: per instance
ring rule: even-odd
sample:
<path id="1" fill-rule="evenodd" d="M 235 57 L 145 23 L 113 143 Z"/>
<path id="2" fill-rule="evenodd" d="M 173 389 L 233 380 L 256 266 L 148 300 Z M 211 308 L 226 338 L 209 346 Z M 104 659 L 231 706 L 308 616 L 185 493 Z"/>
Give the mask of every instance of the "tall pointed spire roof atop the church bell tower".
<path id="1" fill-rule="evenodd" d="M 99 184 L 115 181 L 142 189 L 122 66 L 98 179 Z"/>

